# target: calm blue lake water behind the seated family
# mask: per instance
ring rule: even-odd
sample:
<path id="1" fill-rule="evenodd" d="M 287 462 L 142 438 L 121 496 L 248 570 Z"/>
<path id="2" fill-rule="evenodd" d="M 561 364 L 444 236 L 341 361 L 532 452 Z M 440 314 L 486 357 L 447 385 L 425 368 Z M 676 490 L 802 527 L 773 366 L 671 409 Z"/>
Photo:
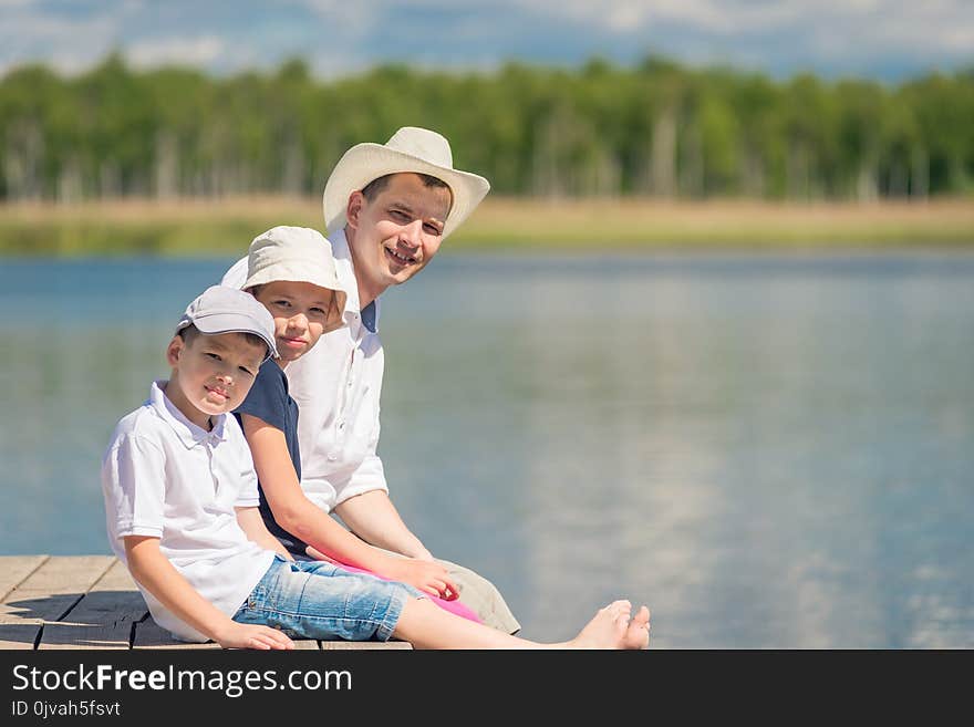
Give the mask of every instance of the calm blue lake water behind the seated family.
<path id="1" fill-rule="evenodd" d="M 110 433 L 230 262 L 0 261 L 0 553 L 110 552 Z M 444 252 L 384 300 L 393 500 L 524 635 L 974 646 L 974 256 Z"/>

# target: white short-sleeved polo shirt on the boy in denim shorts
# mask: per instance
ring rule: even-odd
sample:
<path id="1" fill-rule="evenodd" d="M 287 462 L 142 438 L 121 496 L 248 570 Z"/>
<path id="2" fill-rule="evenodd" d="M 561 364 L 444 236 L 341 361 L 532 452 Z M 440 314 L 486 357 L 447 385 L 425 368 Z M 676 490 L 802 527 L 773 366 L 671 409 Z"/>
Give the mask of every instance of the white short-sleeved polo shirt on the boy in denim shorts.
<path id="1" fill-rule="evenodd" d="M 159 550 L 203 598 L 229 616 L 270 568 L 273 552 L 247 539 L 235 507 L 258 505 L 250 448 L 232 416 L 206 432 L 162 386 L 115 427 L 102 460 L 108 541 L 126 562 L 125 536 L 159 539 Z M 141 584 L 153 619 L 174 636 L 207 637 L 177 619 Z"/>

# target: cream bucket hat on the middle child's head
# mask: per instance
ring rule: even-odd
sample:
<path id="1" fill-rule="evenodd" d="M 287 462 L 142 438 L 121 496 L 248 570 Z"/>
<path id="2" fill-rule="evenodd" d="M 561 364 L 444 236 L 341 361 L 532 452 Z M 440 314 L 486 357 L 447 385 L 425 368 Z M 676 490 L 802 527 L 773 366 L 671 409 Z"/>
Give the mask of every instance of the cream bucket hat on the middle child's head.
<path id="1" fill-rule="evenodd" d="M 310 227 L 280 225 L 253 238 L 247 255 L 244 290 L 278 280 L 333 290 L 336 310 L 345 308 L 348 293 L 339 282 L 331 242 Z"/>

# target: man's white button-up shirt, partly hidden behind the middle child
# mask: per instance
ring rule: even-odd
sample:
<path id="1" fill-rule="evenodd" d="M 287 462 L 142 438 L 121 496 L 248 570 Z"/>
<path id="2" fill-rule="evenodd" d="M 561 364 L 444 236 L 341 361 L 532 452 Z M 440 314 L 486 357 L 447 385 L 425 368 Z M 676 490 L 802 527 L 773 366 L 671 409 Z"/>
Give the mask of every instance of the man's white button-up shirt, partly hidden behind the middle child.
<path id="1" fill-rule="evenodd" d="M 379 301 L 359 310 L 359 285 L 343 230 L 329 236 L 339 281 L 348 293 L 346 325 L 327 333 L 284 370 L 298 403 L 301 487 L 327 512 L 350 497 L 388 491 L 379 446 L 379 401 L 385 356 L 379 339 Z M 220 281 L 240 288 L 247 258 Z M 364 323 L 363 323 L 364 319 Z"/>

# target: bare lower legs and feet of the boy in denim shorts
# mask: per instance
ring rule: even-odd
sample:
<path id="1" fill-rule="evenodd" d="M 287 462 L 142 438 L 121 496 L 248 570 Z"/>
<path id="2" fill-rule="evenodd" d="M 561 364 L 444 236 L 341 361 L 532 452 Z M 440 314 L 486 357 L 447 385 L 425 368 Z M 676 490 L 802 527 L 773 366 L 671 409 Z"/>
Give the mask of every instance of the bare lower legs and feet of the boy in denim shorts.
<path id="1" fill-rule="evenodd" d="M 630 620 L 631 612 L 629 601 L 615 601 L 600 609 L 571 641 L 541 644 L 462 619 L 428 599 L 411 599 L 393 635 L 416 648 L 645 648 L 650 612 L 642 606 Z"/>

